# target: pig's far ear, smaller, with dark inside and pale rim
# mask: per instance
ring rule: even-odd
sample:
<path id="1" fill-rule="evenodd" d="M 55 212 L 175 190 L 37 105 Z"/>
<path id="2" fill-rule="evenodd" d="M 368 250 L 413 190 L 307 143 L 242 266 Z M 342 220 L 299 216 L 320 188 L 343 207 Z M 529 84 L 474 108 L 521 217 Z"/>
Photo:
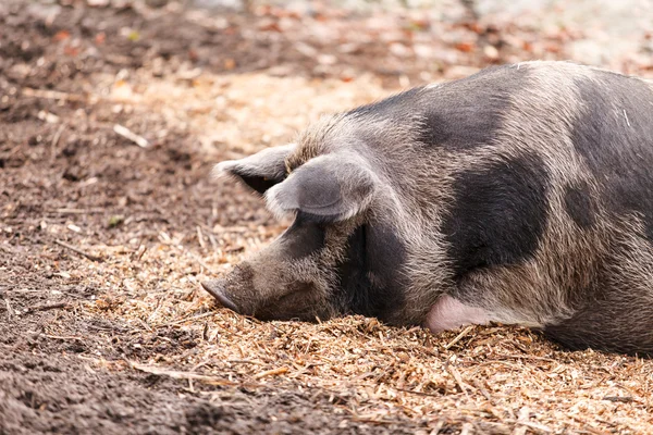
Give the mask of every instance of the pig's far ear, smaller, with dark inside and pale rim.
<path id="1" fill-rule="evenodd" d="M 286 176 L 285 159 L 295 149 L 295 144 L 267 148 L 241 160 L 227 160 L 213 167 L 213 177 L 232 175 L 264 194 Z"/>

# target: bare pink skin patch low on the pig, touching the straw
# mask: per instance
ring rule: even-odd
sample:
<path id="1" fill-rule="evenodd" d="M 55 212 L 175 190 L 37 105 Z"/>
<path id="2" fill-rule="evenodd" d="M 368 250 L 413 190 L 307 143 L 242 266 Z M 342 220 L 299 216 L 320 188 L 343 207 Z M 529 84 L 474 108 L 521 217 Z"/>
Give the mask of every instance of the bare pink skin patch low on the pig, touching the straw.
<path id="1" fill-rule="evenodd" d="M 433 333 L 455 330 L 465 325 L 483 325 L 490 316 L 482 308 L 466 306 L 448 295 L 442 296 L 427 314 L 424 326 Z"/>

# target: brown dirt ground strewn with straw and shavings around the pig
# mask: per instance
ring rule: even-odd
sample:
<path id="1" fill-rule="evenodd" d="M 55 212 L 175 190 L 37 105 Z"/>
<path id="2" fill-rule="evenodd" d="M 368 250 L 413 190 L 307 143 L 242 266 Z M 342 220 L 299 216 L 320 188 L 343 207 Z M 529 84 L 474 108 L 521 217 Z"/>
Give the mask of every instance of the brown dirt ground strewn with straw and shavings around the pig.
<path id="1" fill-rule="evenodd" d="M 199 288 L 283 229 L 213 163 L 592 37 L 436 3 L 0 2 L 0 434 L 653 433 L 649 360 L 502 326 L 261 323 Z M 646 75 L 649 40 L 602 64 Z"/>

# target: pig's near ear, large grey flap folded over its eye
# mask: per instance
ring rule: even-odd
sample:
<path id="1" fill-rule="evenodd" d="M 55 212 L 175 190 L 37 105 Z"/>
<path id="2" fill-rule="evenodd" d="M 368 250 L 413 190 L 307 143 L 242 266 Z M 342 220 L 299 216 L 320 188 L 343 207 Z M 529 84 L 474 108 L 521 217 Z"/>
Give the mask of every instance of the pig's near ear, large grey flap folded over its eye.
<path id="1" fill-rule="evenodd" d="M 268 209 L 278 216 L 300 212 L 321 221 L 344 221 L 370 203 L 374 175 L 356 157 L 321 156 L 299 166 L 266 192 Z"/>

